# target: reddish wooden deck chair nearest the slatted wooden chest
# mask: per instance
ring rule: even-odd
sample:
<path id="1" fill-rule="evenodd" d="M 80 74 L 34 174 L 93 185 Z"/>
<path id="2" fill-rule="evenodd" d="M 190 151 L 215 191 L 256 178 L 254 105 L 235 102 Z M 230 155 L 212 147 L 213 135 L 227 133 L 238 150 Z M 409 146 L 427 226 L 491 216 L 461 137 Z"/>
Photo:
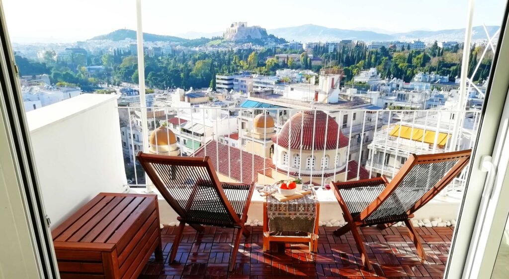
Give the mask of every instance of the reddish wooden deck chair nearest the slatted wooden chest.
<path id="1" fill-rule="evenodd" d="M 169 263 L 175 260 L 185 224 L 198 232 L 204 231 L 202 225 L 237 228 L 229 267 L 232 271 L 241 233 L 249 236 L 244 224 L 254 183 L 219 182 L 209 157 L 164 156 L 143 152 L 138 152 L 136 157 L 166 202 L 179 215 L 177 219 L 180 224 Z"/>

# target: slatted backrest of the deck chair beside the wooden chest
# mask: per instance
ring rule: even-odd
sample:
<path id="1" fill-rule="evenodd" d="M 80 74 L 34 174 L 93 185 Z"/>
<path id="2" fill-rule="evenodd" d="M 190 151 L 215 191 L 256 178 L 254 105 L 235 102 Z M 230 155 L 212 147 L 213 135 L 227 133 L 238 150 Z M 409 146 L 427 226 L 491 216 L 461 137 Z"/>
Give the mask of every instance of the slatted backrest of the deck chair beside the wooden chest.
<path id="1" fill-rule="evenodd" d="M 239 223 L 207 157 L 179 157 L 138 152 L 150 180 L 181 218 L 204 225 Z"/>

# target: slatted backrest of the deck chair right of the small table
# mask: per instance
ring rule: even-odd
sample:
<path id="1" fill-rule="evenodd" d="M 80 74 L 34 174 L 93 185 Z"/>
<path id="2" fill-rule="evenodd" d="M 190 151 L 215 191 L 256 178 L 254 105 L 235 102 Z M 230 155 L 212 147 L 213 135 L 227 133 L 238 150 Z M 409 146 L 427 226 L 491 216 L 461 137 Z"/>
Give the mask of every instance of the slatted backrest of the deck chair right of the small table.
<path id="1" fill-rule="evenodd" d="M 469 162 L 470 154 L 471 150 L 410 155 L 378 198 L 358 217 L 369 222 L 412 214 L 461 173 Z"/>

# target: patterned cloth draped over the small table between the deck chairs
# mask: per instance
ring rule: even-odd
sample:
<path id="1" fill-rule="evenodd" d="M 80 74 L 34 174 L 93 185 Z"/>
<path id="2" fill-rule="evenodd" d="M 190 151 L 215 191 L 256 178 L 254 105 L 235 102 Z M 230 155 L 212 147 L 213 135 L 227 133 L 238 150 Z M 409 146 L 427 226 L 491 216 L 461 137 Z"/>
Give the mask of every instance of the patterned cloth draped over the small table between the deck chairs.
<path id="1" fill-rule="evenodd" d="M 279 202 L 272 196 L 267 197 L 267 218 L 269 233 L 306 232 L 314 234 L 317 216 L 316 192 L 303 198 Z"/>

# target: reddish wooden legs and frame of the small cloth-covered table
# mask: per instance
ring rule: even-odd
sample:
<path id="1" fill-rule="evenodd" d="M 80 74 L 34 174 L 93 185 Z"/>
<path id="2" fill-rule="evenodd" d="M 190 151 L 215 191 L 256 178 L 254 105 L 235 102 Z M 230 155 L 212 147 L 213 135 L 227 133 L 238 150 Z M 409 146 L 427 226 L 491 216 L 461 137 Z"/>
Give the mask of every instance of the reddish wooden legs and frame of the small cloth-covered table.
<path id="1" fill-rule="evenodd" d="M 316 203 L 315 236 L 318 236 L 318 219 L 320 216 L 320 203 Z M 298 220 L 296 220 L 298 221 Z M 309 253 L 318 251 L 318 238 L 313 239 L 313 234 L 307 233 L 307 236 L 289 236 L 289 235 L 270 235 L 269 218 L 267 214 L 267 198 L 263 202 L 263 252 L 270 249 L 270 242 L 307 242 L 309 243 Z"/>

